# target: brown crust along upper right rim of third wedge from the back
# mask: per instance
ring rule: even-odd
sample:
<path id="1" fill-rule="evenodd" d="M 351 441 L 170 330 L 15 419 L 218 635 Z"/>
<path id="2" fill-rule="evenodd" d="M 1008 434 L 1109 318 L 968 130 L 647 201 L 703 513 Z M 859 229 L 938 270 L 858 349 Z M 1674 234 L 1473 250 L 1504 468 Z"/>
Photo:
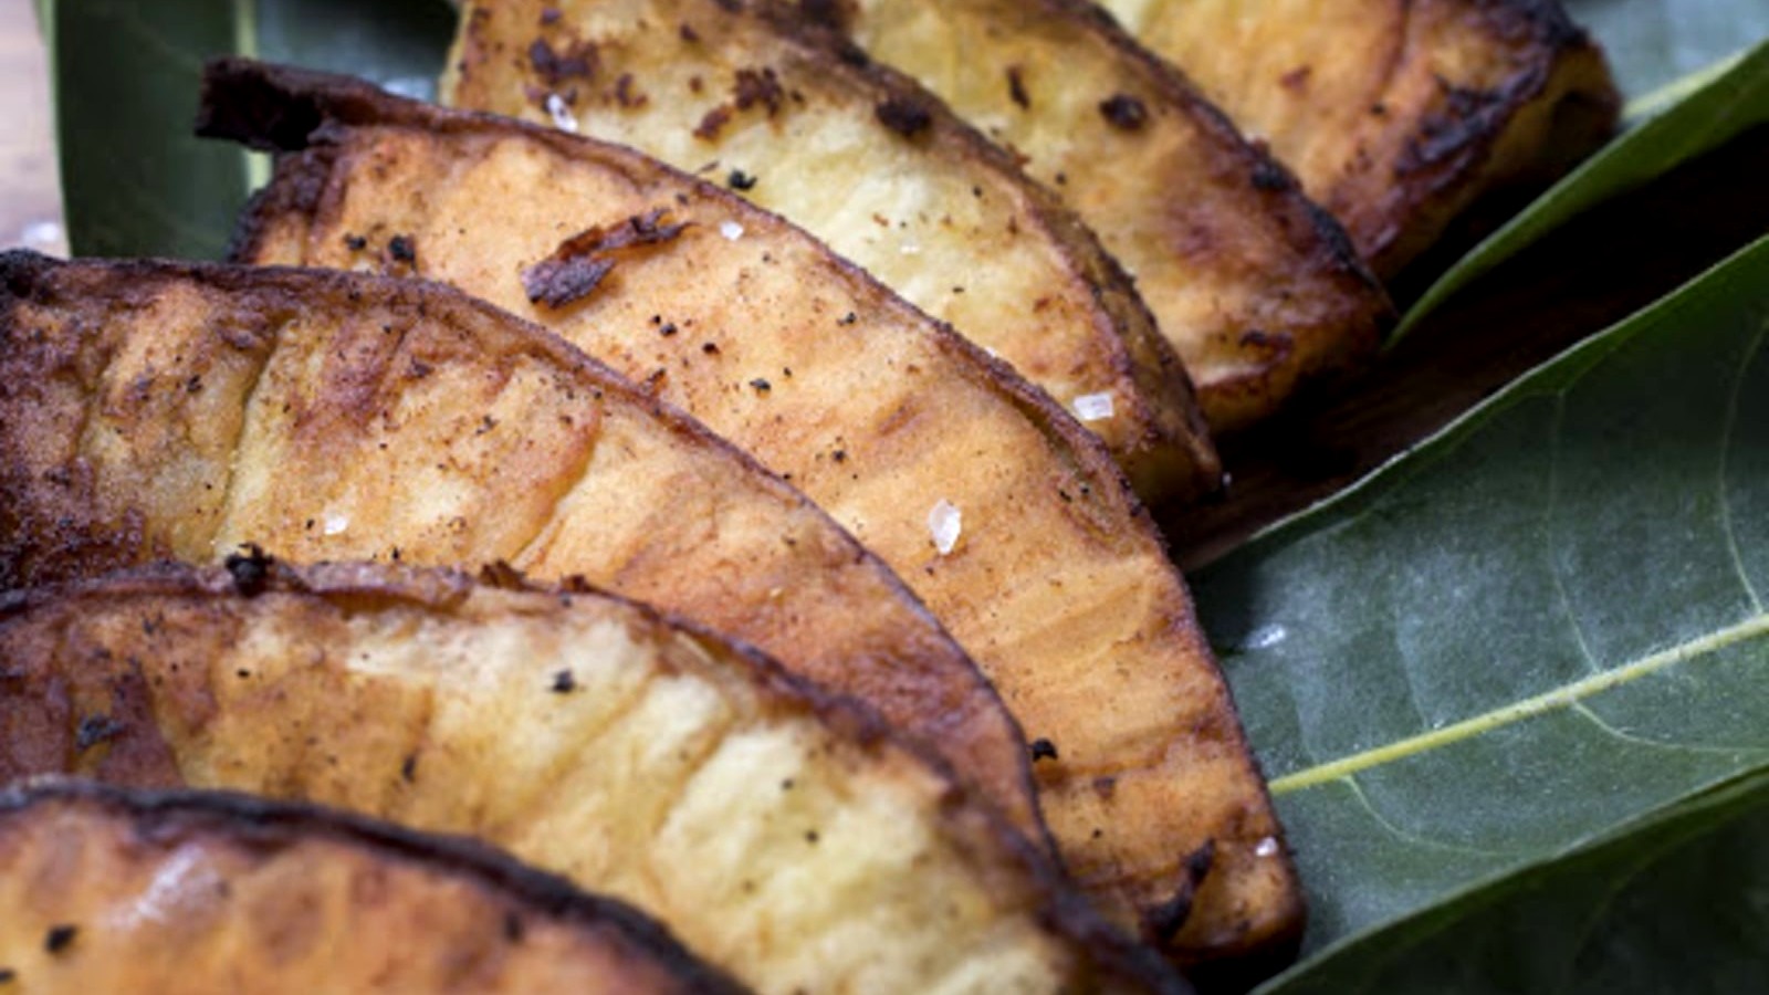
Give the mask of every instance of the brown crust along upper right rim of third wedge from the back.
<path id="1" fill-rule="evenodd" d="M 725 16 L 759 19 L 819 74 L 867 94 L 869 104 L 913 108 L 918 119 L 915 142 L 943 145 L 959 159 L 982 163 L 1008 177 L 1024 195 L 1028 216 L 1061 246 L 1074 271 L 1090 283 L 1100 308 L 1095 312 L 1093 342 L 1111 349 L 1109 368 L 1136 388 L 1125 407 L 1132 407 L 1134 400 L 1134 421 L 1145 428 L 1141 437 L 1113 448 L 1120 467 L 1150 501 L 1183 501 L 1221 490 L 1222 462 L 1198 407 L 1191 375 L 1160 335 L 1132 278 L 1060 197 L 1028 177 L 1012 154 L 961 120 L 938 96 L 874 62 L 839 32 L 810 23 L 773 0 L 706 2 Z"/>

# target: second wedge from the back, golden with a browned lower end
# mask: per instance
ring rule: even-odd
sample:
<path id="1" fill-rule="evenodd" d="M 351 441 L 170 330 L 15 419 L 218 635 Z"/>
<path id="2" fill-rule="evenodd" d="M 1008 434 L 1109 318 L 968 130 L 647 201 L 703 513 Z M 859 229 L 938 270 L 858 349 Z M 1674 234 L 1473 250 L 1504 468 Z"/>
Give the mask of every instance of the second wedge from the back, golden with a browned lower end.
<path id="1" fill-rule="evenodd" d="M 1212 432 L 1375 352 L 1390 308 L 1337 221 L 1088 0 L 784 0 L 1026 156 L 1136 274 Z"/>

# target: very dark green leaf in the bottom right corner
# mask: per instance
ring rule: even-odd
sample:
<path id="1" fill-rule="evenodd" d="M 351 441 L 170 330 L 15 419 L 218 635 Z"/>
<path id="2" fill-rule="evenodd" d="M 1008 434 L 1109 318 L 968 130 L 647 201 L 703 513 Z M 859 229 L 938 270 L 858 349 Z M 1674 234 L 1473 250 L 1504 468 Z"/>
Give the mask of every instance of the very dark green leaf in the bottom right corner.
<path id="1" fill-rule="evenodd" d="M 1769 777 L 1757 775 L 1346 944 L 1261 995 L 1760 991 L 1764 837 Z"/>

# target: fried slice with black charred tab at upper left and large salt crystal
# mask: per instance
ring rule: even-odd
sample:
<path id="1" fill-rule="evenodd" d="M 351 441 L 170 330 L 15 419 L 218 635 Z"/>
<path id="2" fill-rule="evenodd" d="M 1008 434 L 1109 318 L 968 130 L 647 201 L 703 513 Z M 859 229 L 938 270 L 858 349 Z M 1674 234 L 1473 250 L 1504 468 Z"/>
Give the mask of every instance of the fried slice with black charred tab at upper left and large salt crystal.
<path id="1" fill-rule="evenodd" d="M 1185 584 L 1047 397 L 791 225 L 628 149 L 257 64 L 216 66 L 205 94 L 205 131 L 304 149 L 248 216 L 246 258 L 382 266 L 400 237 L 417 273 L 655 384 L 853 529 L 1056 744 L 1044 813 L 1120 921 L 1148 914 L 1187 963 L 1293 944 L 1297 882 Z M 570 248 L 640 228 L 642 250 Z M 531 301 L 561 258 L 598 283 Z M 1187 857 L 1212 841 L 1187 919 Z"/>

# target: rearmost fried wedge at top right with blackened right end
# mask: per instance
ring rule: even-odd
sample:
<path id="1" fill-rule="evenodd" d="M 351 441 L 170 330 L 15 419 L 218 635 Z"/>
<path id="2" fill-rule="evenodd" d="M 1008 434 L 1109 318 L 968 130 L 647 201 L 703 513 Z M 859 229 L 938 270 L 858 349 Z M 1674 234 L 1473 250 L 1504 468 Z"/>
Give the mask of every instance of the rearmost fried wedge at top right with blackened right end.
<path id="1" fill-rule="evenodd" d="M 1104 0 L 1302 179 L 1382 276 L 1553 179 L 1620 101 L 1557 0 Z"/>

